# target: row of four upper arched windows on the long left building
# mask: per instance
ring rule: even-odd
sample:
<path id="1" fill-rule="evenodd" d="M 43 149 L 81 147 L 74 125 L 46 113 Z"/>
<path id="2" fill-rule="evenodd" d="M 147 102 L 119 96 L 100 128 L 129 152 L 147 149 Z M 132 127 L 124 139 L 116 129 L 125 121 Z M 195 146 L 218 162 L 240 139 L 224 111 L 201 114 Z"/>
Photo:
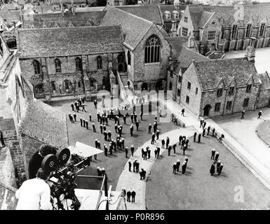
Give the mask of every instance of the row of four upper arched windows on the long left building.
<path id="1" fill-rule="evenodd" d="M 55 63 L 55 72 L 61 73 L 62 68 L 61 68 L 60 59 L 56 58 L 54 63 Z M 41 65 L 40 65 L 39 61 L 34 60 L 33 66 L 34 66 L 34 73 L 36 75 L 40 74 L 41 73 Z M 80 71 L 80 72 L 83 71 L 83 64 L 81 62 L 81 58 L 76 57 L 75 66 L 76 66 L 76 71 Z M 102 57 L 101 56 L 97 56 L 97 69 L 102 69 Z"/>

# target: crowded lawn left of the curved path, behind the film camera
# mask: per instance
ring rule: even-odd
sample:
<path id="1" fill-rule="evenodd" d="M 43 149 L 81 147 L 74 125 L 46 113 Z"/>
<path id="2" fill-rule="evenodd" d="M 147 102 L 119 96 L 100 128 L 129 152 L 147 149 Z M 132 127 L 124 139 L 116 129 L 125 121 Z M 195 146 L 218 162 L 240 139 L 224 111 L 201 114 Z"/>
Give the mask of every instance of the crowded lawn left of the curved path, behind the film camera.
<path id="1" fill-rule="evenodd" d="M 59 109 L 62 112 L 67 113 L 67 127 L 68 127 L 68 133 L 69 133 L 69 145 L 74 146 L 76 141 L 80 141 L 83 144 L 88 144 L 90 146 L 95 147 L 95 139 L 98 139 L 101 144 L 101 148 L 103 149 L 104 144 L 106 143 L 107 146 L 109 146 L 108 141 L 104 141 L 104 135 L 100 134 L 100 123 L 97 123 L 97 111 L 95 110 L 95 106 L 93 102 L 86 102 L 86 112 L 79 111 L 79 113 L 76 113 L 77 115 L 77 122 L 72 124 L 69 121 L 68 114 L 74 113 L 71 108 L 72 101 L 65 101 L 65 102 L 53 102 L 53 107 L 56 109 Z M 147 111 L 148 105 L 144 106 L 144 111 Z M 156 115 L 155 109 L 153 107 L 153 115 L 144 115 L 143 120 L 140 120 L 140 106 L 136 106 L 137 111 L 137 119 L 140 122 L 139 131 L 136 131 L 135 124 L 134 125 L 134 132 L 133 137 L 130 137 L 130 124 L 131 120 L 130 117 L 127 118 L 127 125 L 123 125 L 123 119 L 120 118 L 120 124 L 123 125 L 123 134 L 122 137 L 125 139 L 125 146 L 130 146 L 133 144 L 135 146 L 135 150 L 137 147 L 144 144 L 146 141 L 151 139 L 151 134 L 147 134 L 148 132 L 148 125 L 151 123 L 152 130 L 153 130 L 153 123 L 154 123 L 154 116 Z M 92 120 L 95 122 L 95 128 L 97 130 L 96 133 L 93 132 L 92 129 L 92 123 L 89 123 L 89 130 L 86 130 L 86 128 L 81 127 L 79 118 L 86 118 L 89 120 L 88 114 L 91 113 Z M 144 112 L 146 114 L 146 112 Z M 173 123 L 162 123 L 158 124 L 158 130 L 161 131 L 161 134 L 164 132 L 168 132 L 170 130 L 175 129 L 175 125 Z M 107 126 L 107 131 L 110 130 L 112 132 L 112 139 L 116 139 L 117 133 L 114 130 L 114 120 L 109 120 L 109 126 Z M 130 157 L 131 153 L 129 151 L 128 157 Z M 121 174 L 121 171 L 123 167 L 125 166 L 127 162 L 127 158 L 125 157 L 124 151 L 116 151 L 113 155 L 108 155 L 107 157 L 104 155 L 104 153 L 97 155 L 97 160 L 94 160 L 91 162 L 90 167 L 84 169 L 79 174 L 84 175 L 97 175 L 96 167 L 104 167 L 108 174 L 108 184 L 112 185 L 112 190 L 115 190 L 117 181 L 119 179 L 119 176 Z M 101 181 L 93 180 L 93 179 L 81 179 L 78 178 L 76 180 L 76 183 L 78 183 L 79 188 L 90 188 L 90 189 L 100 189 Z"/>

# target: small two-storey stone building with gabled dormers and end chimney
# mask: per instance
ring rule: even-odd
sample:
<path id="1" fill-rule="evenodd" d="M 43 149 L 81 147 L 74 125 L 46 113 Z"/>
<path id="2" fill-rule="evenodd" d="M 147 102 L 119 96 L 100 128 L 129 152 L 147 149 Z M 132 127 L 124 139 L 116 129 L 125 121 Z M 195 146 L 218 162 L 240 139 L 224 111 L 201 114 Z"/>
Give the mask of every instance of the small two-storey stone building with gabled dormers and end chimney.
<path id="1" fill-rule="evenodd" d="M 247 50 L 243 58 L 192 62 L 182 75 L 182 104 L 204 117 L 255 110 L 262 81 L 254 49 Z"/>

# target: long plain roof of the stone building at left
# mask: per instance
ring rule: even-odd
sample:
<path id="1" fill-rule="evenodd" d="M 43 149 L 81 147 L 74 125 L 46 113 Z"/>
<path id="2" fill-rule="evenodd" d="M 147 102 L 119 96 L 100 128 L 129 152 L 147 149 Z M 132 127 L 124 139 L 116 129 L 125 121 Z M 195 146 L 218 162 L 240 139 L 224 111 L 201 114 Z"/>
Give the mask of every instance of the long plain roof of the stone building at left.
<path id="1" fill-rule="evenodd" d="M 18 30 L 20 58 L 89 55 L 122 50 L 120 26 Z"/>

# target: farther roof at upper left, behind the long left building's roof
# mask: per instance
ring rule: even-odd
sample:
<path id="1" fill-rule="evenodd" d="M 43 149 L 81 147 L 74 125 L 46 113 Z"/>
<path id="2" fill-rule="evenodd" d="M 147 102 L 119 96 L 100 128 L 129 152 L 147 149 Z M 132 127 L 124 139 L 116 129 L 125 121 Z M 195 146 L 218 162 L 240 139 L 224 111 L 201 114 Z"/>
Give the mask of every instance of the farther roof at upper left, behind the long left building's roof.
<path id="1" fill-rule="evenodd" d="M 44 13 L 33 15 L 33 20 L 23 20 L 23 27 L 30 28 L 34 25 L 35 28 L 42 28 L 45 24 L 46 27 L 53 27 L 55 22 L 59 27 L 67 27 L 69 22 L 75 27 L 86 27 L 90 25 L 98 26 L 102 21 L 106 12 L 104 11 L 88 11 L 76 12 L 73 15 L 71 12 L 64 13 Z"/>

